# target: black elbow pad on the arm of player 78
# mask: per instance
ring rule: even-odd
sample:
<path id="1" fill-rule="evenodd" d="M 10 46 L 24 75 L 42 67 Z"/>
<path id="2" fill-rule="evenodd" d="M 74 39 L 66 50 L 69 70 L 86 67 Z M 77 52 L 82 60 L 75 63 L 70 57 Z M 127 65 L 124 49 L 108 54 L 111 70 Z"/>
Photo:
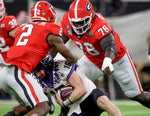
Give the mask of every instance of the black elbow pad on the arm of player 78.
<path id="1" fill-rule="evenodd" d="M 104 51 L 111 50 L 115 54 L 115 56 L 117 54 L 117 48 L 115 45 L 115 41 L 113 41 L 113 40 L 109 40 L 109 41 L 106 41 L 105 43 L 103 43 L 102 49 Z"/>

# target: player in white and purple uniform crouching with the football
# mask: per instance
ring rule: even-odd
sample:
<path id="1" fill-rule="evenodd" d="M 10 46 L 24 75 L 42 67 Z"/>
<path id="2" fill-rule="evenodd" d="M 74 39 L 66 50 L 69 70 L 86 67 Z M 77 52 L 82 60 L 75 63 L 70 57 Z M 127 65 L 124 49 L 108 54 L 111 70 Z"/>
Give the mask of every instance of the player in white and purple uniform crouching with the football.
<path id="1" fill-rule="evenodd" d="M 106 93 L 96 89 L 94 83 L 78 70 L 76 64 L 72 65 L 65 60 L 53 62 L 47 56 L 32 73 L 47 93 L 54 94 L 55 101 L 61 107 L 70 108 L 67 116 L 99 116 L 104 111 L 108 116 L 122 116 Z M 60 96 L 58 91 L 65 86 L 72 86 L 73 91 L 69 97 L 62 99 L 68 93 Z"/>

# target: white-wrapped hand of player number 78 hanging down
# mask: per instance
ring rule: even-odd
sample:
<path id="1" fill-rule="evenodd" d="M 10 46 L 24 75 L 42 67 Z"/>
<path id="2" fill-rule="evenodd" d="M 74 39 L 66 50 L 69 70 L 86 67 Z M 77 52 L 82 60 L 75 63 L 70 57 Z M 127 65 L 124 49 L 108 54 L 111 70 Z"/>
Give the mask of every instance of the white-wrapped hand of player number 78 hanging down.
<path id="1" fill-rule="evenodd" d="M 102 64 L 102 71 L 108 76 L 111 77 L 111 74 L 114 72 L 114 67 L 112 65 L 112 59 L 105 57 Z"/>

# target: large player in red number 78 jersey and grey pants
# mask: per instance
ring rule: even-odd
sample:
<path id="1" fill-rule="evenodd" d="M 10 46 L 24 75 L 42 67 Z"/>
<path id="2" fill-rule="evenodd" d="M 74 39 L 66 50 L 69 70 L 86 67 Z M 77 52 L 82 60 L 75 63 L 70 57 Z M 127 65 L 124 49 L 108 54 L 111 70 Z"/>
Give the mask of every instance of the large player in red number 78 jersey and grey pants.
<path id="1" fill-rule="evenodd" d="M 120 36 L 88 0 L 74 0 L 62 22 L 64 42 L 75 41 L 83 50 L 80 71 L 92 81 L 106 74 L 125 95 L 150 108 L 150 93 L 143 91 L 137 71 Z"/>

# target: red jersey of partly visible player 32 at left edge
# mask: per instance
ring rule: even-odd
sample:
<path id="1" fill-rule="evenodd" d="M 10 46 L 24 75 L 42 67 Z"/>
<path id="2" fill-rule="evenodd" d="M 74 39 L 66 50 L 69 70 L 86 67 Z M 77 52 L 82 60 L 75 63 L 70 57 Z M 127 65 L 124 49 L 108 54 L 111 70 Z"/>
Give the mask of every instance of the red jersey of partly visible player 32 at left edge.
<path id="1" fill-rule="evenodd" d="M 0 21 L 0 54 L 6 61 L 7 51 L 13 45 L 14 39 L 9 37 L 9 31 L 15 29 L 18 22 L 14 16 L 5 16 Z"/>

